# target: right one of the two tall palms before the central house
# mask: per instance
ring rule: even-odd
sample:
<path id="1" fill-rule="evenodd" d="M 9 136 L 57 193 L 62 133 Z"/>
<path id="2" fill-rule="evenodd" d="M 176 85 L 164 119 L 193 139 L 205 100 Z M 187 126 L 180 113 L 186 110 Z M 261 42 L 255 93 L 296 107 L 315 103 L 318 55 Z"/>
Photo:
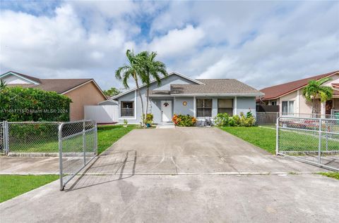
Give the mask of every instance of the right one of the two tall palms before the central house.
<path id="1" fill-rule="evenodd" d="M 147 51 L 144 51 L 145 53 L 145 60 L 143 61 L 143 82 L 146 84 L 147 87 L 147 93 L 146 93 L 146 116 L 148 114 L 148 103 L 150 101 L 150 82 L 155 79 L 157 82 L 157 86 L 160 87 L 161 85 L 161 77 L 160 75 L 167 77 L 167 71 L 166 71 L 166 65 L 165 63 L 162 63 L 159 60 L 155 60 L 155 57 L 157 56 L 156 52 L 148 53 Z"/>

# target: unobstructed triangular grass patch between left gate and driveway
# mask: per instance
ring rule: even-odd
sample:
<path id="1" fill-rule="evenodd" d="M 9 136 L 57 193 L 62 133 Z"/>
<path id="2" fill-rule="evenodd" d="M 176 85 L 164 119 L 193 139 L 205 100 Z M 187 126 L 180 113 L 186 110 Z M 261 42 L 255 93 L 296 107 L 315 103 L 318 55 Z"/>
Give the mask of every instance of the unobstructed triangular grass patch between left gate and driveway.
<path id="1" fill-rule="evenodd" d="M 97 153 L 102 153 L 122 136 L 136 129 L 137 125 L 104 125 L 97 127 Z"/>

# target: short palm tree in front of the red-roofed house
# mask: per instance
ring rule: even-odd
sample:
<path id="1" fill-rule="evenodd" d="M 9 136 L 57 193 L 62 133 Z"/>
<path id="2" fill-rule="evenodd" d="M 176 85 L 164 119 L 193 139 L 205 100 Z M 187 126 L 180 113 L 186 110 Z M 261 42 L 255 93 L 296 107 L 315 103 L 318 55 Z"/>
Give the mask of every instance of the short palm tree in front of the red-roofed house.
<path id="1" fill-rule="evenodd" d="M 312 102 L 312 114 L 314 114 L 314 99 L 320 98 L 321 102 L 328 101 L 333 96 L 333 89 L 328 86 L 322 86 L 325 82 L 331 80 L 331 77 L 324 77 L 319 80 L 310 80 L 302 94 L 308 101 Z"/>

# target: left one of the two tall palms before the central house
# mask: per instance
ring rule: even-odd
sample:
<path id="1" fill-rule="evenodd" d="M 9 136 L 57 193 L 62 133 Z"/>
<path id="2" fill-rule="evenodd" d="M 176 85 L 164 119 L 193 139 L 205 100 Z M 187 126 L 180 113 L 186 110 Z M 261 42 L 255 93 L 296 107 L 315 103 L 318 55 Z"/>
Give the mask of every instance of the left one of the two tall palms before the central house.
<path id="1" fill-rule="evenodd" d="M 133 51 L 127 50 L 126 51 L 126 57 L 129 60 L 129 65 L 124 65 L 115 72 L 115 77 L 122 81 L 122 84 L 126 89 L 129 89 L 129 79 L 133 78 L 134 82 L 136 83 L 136 91 L 138 91 L 140 100 L 141 100 L 141 110 L 142 110 L 142 117 L 144 117 L 144 110 L 143 110 L 143 98 L 141 96 L 141 92 L 139 89 L 138 79 L 143 80 L 145 77 L 143 77 L 144 72 L 142 72 L 143 64 L 145 61 L 145 52 L 138 53 L 137 55 L 134 55 Z M 144 124 L 144 120 L 143 120 Z"/>

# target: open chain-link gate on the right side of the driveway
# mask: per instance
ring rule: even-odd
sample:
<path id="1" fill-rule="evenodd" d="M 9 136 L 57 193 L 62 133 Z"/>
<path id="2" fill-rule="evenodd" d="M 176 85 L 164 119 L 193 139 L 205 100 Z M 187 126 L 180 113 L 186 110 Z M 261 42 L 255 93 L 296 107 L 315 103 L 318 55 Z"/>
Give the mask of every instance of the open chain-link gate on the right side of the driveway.
<path id="1" fill-rule="evenodd" d="M 279 117 L 277 155 L 339 171 L 339 119 Z"/>

